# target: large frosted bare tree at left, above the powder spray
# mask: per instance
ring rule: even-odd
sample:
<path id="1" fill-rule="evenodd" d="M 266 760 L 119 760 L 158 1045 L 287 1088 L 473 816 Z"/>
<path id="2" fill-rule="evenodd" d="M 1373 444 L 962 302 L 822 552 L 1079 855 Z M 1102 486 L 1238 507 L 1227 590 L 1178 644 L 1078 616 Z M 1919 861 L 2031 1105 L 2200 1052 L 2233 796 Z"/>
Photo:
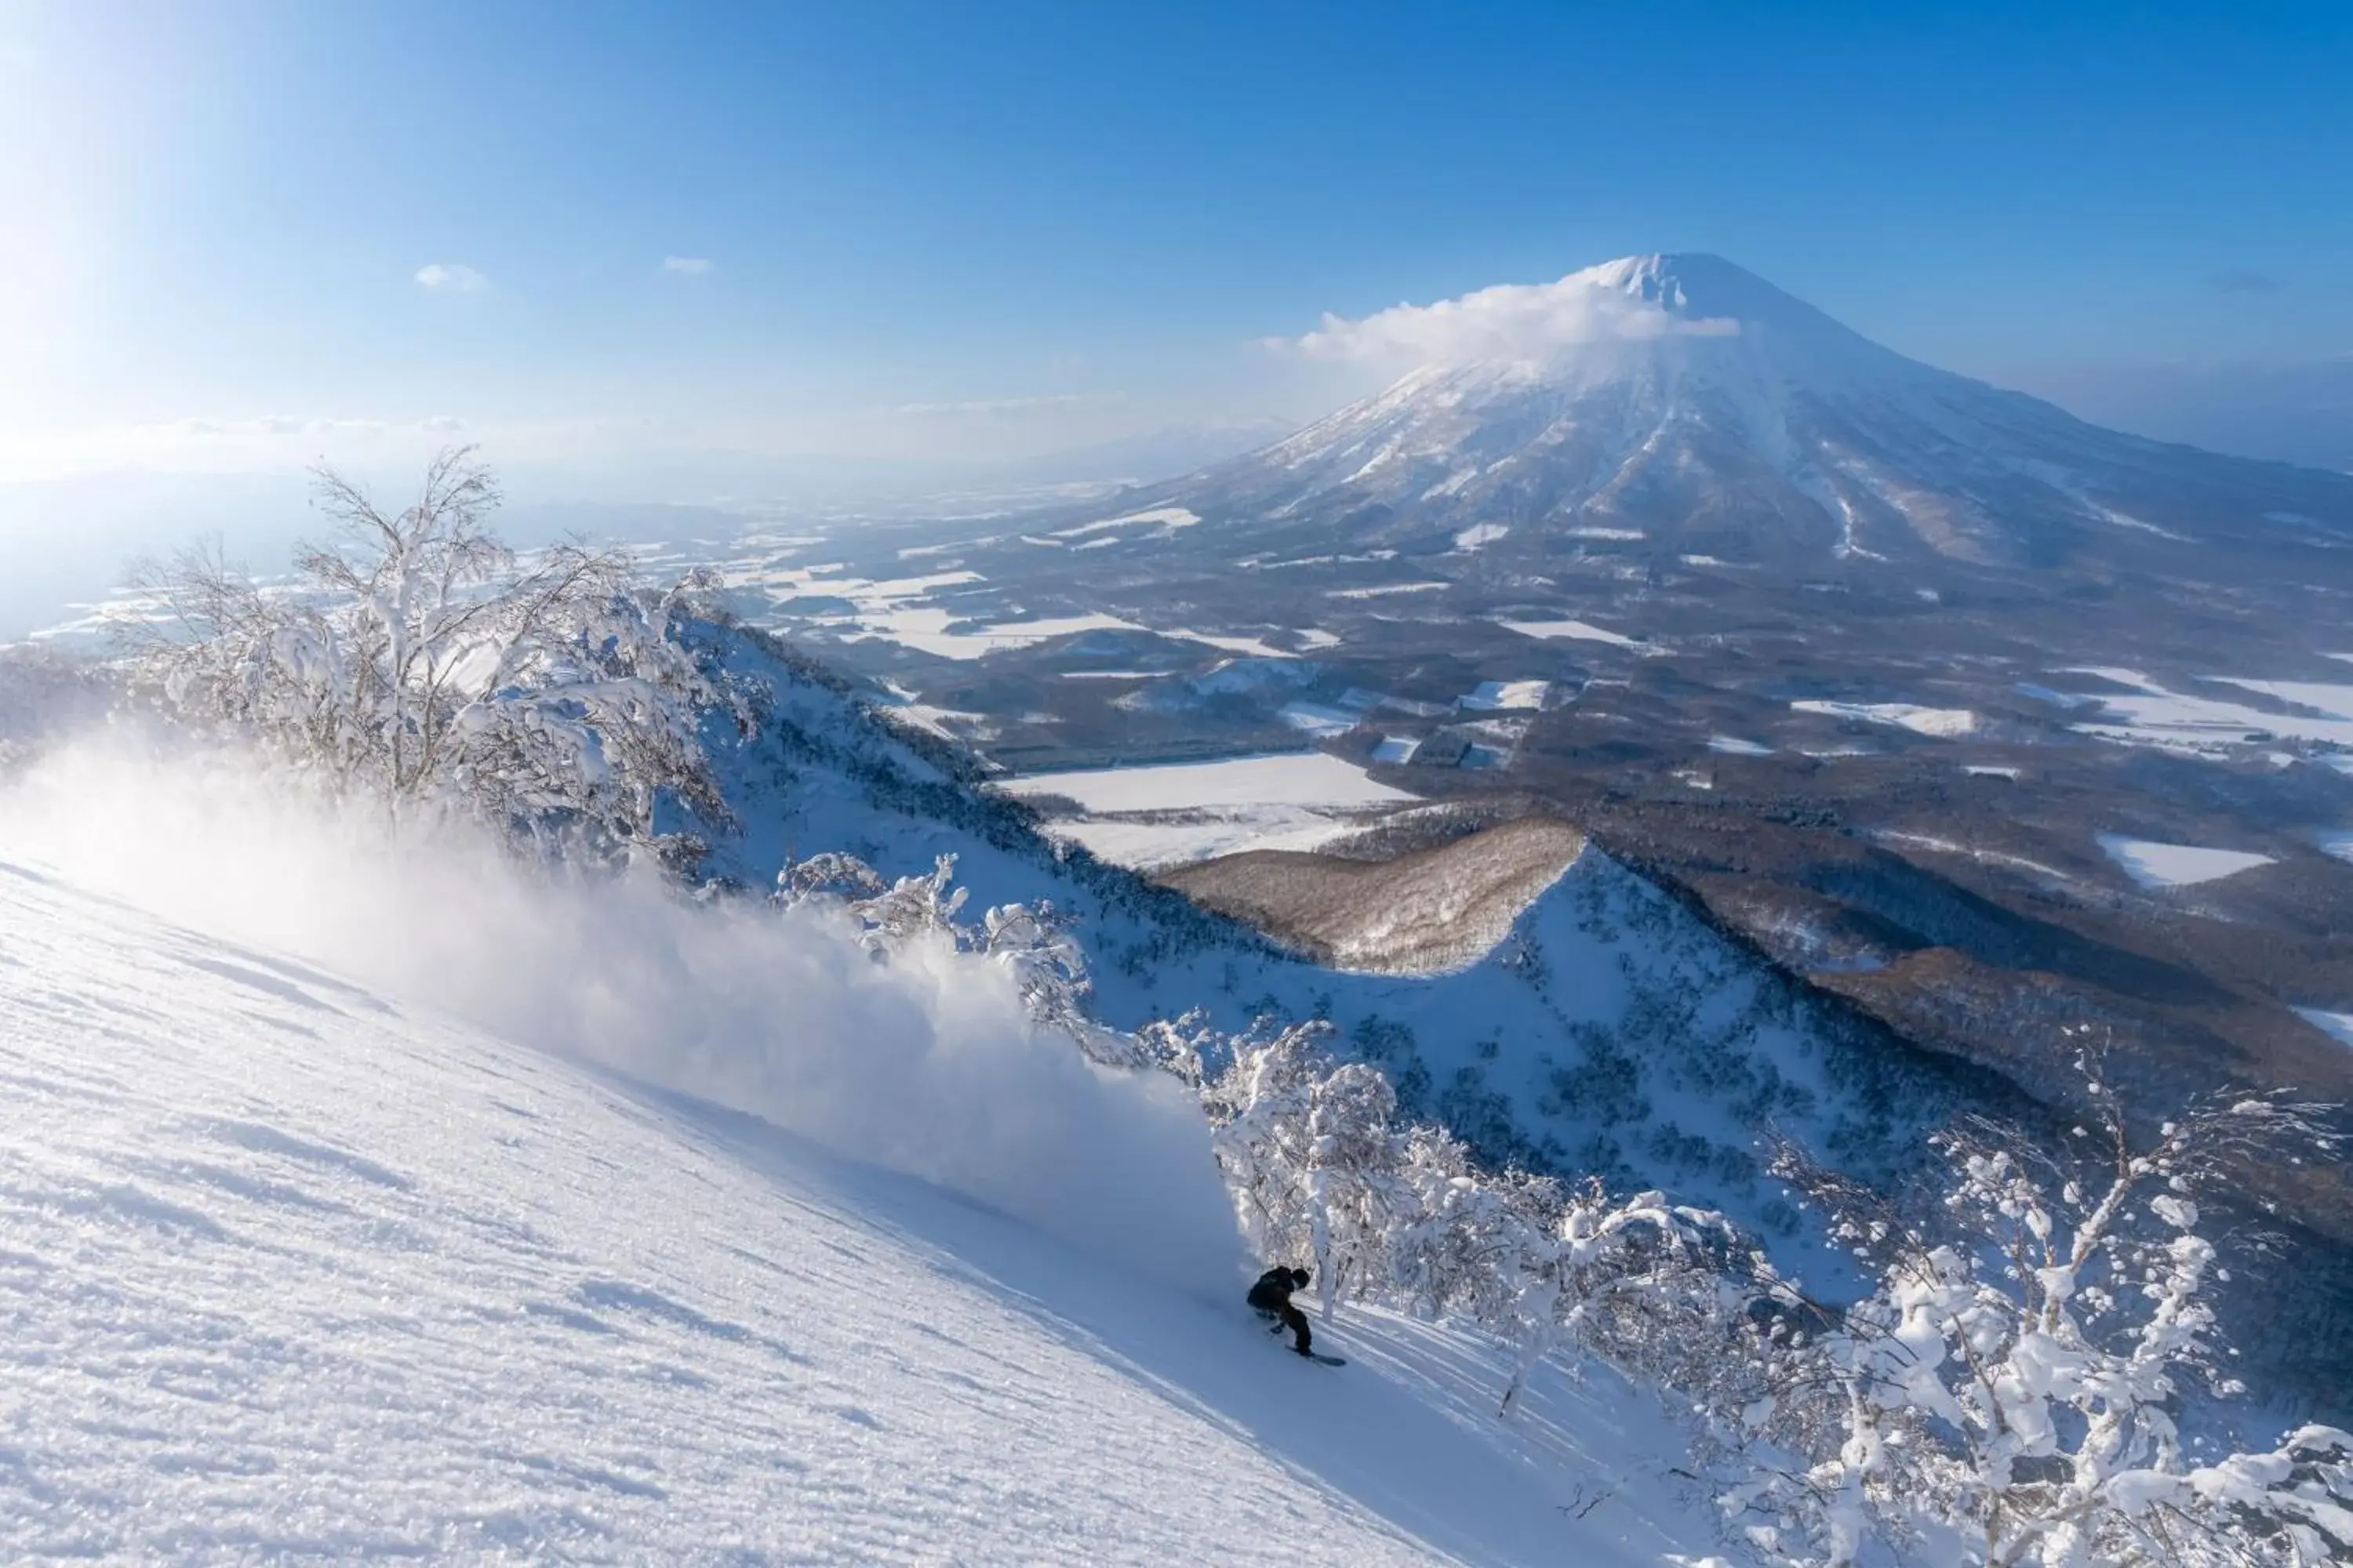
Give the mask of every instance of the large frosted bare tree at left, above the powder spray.
<path id="1" fill-rule="evenodd" d="M 621 552 L 518 557 L 473 449 L 442 451 L 400 512 L 332 470 L 315 498 L 336 536 L 299 550 L 292 583 L 202 548 L 146 574 L 162 614 L 132 646 L 174 710 L 336 795 L 461 809 L 513 839 L 647 844 L 664 792 L 727 818 L 701 719 L 748 715 L 678 637 L 704 576 L 654 592 Z"/>

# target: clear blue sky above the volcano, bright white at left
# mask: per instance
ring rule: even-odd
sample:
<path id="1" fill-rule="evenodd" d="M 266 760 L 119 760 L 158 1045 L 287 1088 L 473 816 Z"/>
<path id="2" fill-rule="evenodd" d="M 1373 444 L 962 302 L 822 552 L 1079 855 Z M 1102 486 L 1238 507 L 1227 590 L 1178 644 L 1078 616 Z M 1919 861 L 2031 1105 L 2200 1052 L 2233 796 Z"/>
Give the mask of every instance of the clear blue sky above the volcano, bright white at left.
<path id="1" fill-rule="evenodd" d="M 1304 418 L 1365 369 L 1261 339 L 1652 249 L 2012 386 L 2348 357 L 2348 5 L 0 0 L 0 480 Z"/>

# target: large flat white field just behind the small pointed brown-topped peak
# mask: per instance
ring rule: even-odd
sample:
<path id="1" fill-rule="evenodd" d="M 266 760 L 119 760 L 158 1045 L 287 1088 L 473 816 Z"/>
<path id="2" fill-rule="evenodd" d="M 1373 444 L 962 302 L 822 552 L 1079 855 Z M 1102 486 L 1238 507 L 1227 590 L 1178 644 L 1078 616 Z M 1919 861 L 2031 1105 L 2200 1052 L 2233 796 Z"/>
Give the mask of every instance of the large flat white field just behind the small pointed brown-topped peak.
<path id="1" fill-rule="evenodd" d="M 1282 712 L 1315 731 L 1353 729 L 1362 719 L 1313 703 Z M 1078 802 L 1087 816 L 1047 823 L 1047 830 L 1146 870 L 1245 849 L 1315 849 L 1358 827 L 1367 811 L 1419 799 L 1325 752 L 1031 773 L 995 788 Z"/>

